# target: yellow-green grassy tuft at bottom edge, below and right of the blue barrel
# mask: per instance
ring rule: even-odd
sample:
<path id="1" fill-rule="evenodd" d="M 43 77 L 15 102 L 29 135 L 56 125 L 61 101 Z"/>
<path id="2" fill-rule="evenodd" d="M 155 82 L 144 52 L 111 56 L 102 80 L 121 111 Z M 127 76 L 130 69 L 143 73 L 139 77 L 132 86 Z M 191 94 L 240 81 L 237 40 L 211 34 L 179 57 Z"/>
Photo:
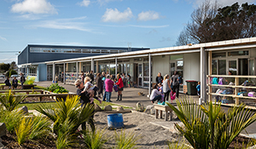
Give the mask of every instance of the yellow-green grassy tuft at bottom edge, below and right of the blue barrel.
<path id="1" fill-rule="evenodd" d="M 133 131 L 130 131 L 128 134 L 125 133 L 125 130 L 121 130 L 119 133 L 114 131 L 114 134 L 114 139 L 116 141 L 115 149 L 135 149 L 137 148 L 137 140 L 141 138 Z"/>

